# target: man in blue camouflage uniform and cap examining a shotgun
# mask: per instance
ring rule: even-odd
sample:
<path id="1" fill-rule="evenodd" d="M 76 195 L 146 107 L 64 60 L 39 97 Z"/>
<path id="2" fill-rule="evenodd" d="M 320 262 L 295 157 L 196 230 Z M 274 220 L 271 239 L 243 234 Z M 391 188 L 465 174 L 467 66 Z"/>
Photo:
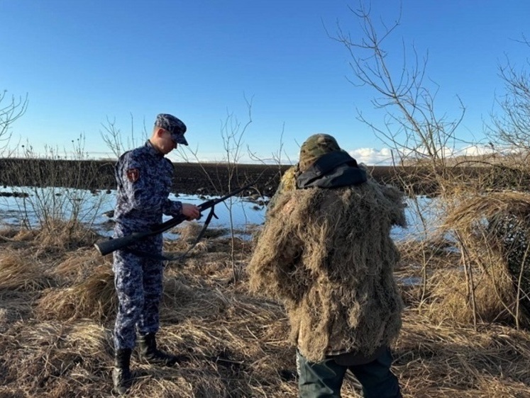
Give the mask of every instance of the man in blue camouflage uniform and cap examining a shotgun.
<path id="1" fill-rule="evenodd" d="M 157 116 L 153 135 L 143 147 L 121 155 L 115 166 L 117 202 L 114 237 L 147 231 L 162 222 L 162 214 L 199 218 L 199 208 L 168 199 L 173 165 L 165 158 L 177 147 L 187 145 L 186 125 L 173 115 Z M 114 282 L 118 314 L 114 328 L 115 362 L 113 382 L 124 394 L 130 385 L 131 353 L 138 343 L 140 356 L 149 363 L 172 366 L 177 357 L 158 350 L 158 306 L 162 297 L 162 234 L 148 237 L 114 252 Z"/>

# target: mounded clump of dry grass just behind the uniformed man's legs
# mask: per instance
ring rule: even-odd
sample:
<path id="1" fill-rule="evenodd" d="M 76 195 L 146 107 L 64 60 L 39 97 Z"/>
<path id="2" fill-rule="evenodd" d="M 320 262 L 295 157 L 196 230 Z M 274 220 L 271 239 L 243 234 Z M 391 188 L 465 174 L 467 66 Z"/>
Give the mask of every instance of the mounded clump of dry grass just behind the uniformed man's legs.
<path id="1" fill-rule="evenodd" d="M 45 291 L 36 311 L 40 319 L 89 318 L 103 322 L 116 314 L 116 305 L 114 273 L 109 266 L 99 266 L 87 280 L 72 288 Z"/>

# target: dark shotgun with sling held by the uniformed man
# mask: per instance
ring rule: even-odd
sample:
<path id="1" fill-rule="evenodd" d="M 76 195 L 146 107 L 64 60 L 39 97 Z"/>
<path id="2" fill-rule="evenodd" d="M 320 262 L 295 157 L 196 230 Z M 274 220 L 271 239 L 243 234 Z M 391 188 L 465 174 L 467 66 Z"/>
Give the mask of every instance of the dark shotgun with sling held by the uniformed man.
<path id="1" fill-rule="evenodd" d="M 224 202 L 226 199 L 231 198 L 231 196 L 237 195 L 238 193 L 245 191 L 245 189 L 248 189 L 250 188 L 250 186 L 253 186 L 254 183 L 255 181 L 241 188 L 238 188 L 235 191 L 227 193 L 221 198 L 206 200 L 206 202 L 201 203 L 197 207 L 199 207 L 200 212 L 203 212 L 204 210 L 208 210 L 211 208 L 210 214 L 217 218 L 217 216 L 214 214 L 214 206 L 216 204 Z M 97 251 L 99 251 L 99 253 L 102 256 L 105 256 L 106 254 L 112 253 L 113 251 L 116 251 L 118 249 L 123 249 L 126 246 L 130 246 L 131 244 L 141 239 L 145 239 L 147 237 L 152 237 L 153 235 L 161 234 L 162 232 L 165 232 L 168 229 L 175 227 L 176 225 L 180 224 L 181 222 L 185 220 L 186 220 L 186 217 L 184 217 L 184 215 L 177 215 L 175 217 L 170 218 L 170 220 L 167 220 L 166 222 L 153 225 L 153 227 L 149 231 L 133 232 L 132 234 L 126 235 L 124 237 L 106 239 L 104 241 L 96 242 L 94 246 L 96 247 Z"/>

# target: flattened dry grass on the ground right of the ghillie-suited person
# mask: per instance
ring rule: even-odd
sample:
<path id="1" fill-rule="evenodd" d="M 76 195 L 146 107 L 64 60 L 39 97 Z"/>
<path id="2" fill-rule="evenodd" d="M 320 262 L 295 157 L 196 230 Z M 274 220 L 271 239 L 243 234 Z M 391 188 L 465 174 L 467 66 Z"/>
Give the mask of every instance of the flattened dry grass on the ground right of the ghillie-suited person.
<path id="1" fill-rule="evenodd" d="M 405 314 L 394 364 L 405 397 L 529 397 L 530 336 L 507 326 L 434 324 Z"/>

